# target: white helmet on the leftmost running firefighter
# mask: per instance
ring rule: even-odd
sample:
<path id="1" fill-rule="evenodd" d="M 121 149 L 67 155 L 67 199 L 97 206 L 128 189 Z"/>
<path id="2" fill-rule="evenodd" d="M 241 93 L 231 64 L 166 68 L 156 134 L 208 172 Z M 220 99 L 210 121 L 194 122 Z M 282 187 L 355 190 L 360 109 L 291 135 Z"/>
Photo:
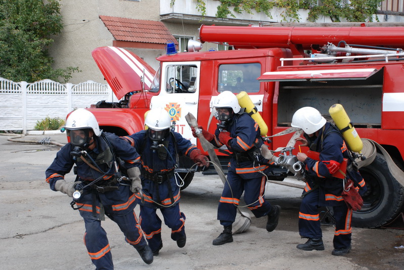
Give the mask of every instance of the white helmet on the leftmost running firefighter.
<path id="1" fill-rule="evenodd" d="M 73 111 L 66 119 L 65 128 L 67 129 L 67 136 L 69 136 L 69 130 L 77 130 L 84 128 L 91 128 L 94 135 L 99 137 L 101 130 L 99 130 L 97 119 L 94 114 L 86 109 L 77 109 Z"/>

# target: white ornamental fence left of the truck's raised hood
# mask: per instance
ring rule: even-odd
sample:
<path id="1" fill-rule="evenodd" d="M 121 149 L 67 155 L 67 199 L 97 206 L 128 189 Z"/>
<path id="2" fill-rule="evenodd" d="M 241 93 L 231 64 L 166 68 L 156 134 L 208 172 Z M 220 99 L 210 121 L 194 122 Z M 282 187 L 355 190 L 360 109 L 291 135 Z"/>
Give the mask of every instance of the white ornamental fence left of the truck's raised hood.
<path id="1" fill-rule="evenodd" d="M 108 85 L 87 81 L 77 85 L 51 80 L 35 83 L 0 78 L 0 130 L 33 130 L 46 116 L 66 118 L 75 108 L 117 99 Z"/>

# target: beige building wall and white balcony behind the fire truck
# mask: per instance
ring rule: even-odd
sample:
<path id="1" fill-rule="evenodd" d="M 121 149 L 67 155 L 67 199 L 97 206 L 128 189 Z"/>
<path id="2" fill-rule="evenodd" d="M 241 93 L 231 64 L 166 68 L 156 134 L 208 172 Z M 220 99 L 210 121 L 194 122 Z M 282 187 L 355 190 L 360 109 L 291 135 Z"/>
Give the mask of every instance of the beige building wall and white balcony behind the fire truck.
<path id="1" fill-rule="evenodd" d="M 67 66 L 78 66 L 82 71 L 74 73 L 69 83 L 77 84 L 84 81 L 106 83 L 91 56 L 91 51 L 97 47 L 112 46 L 114 37 L 99 15 L 115 16 L 131 19 L 160 21 L 160 15 L 176 13 L 194 16 L 192 23 L 164 21 L 166 27 L 174 36 L 194 36 L 198 38 L 198 28 L 204 22 L 196 10 L 195 0 L 176 0 L 170 7 L 171 0 L 60 0 L 61 15 L 64 29 L 54 37 L 55 42 L 49 49 L 54 58 L 56 69 Z M 214 17 L 219 1 L 207 0 L 207 16 Z M 237 19 L 253 20 L 256 22 L 281 22 L 282 9 L 273 9 L 273 18 L 265 14 L 236 14 Z M 404 22 L 404 16 L 378 15 L 380 22 Z M 230 17 L 229 17 L 230 18 Z M 307 11 L 301 10 L 301 22 L 306 22 Z M 230 20 L 230 19 L 229 19 Z M 330 22 L 329 18 L 320 18 L 319 23 Z M 207 25 L 214 22 L 205 22 Z M 216 44 L 207 43 L 203 50 L 216 48 Z M 164 50 L 126 48 L 142 57 L 155 70 L 158 69 L 157 57 L 164 54 Z"/>

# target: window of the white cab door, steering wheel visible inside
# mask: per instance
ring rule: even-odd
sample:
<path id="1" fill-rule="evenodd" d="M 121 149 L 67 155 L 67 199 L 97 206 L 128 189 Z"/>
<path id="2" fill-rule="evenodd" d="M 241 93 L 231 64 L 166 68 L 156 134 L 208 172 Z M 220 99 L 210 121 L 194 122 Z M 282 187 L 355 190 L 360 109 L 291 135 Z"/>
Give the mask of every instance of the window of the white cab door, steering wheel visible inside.
<path id="1" fill-rule="evenodd" d="M 196 65 L 169 65 L 166 72 L 167 93 L 194 93 L 196 91 Z"/>

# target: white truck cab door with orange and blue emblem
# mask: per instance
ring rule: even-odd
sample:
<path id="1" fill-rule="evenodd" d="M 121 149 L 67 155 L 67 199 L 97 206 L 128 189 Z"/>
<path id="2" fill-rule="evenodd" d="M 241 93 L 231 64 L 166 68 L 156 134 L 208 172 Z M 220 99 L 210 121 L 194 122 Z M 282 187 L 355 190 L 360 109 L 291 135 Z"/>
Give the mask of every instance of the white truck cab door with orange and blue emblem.
<path id="1" fill-rule="evenodd" d="M 175 131 L 196 145 L 196 138 L 185 120 L 190 112 L 198 118 L 200 62 L 163 62 L 160 93 L 151 98 L 150 108 L 165 108 Z"/>

